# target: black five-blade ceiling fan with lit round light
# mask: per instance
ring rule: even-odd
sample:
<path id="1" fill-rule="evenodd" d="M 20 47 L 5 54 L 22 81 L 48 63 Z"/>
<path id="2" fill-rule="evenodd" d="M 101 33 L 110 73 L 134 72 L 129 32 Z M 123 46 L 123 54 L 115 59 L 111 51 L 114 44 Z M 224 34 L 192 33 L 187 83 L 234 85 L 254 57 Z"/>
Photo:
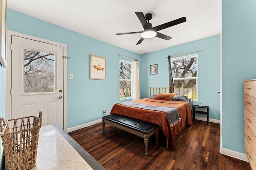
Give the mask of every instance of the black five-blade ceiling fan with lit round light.
<path id="1" fill-rule="evenodd" d="M 160 31 L 162 29 L 166 29 L 168 27 L 172 27 L 174 25 L 178 25 L 180 23 L 187 21 L 186 17 L 182 17 L 177 20 L 173 20 L 173 21 L 158 25 L 156 27 L 152 27 L 152 23 L 149 23 L 149 20 L 154 18 L 154 16 L 155 16 L 154 12 L 148 12 L 145 16 L 144 16 L 143 12 L 135 12 L 135 14 L 137 15 L 138 19 L 140 20 L 140 23 L 142 24 L 144 31 L 129 32 L 129 33 L 116 33 L 116 35 L 142 33 L 141 38 L 136 45 L 140 44 L 145 38 L 158 37 L 158 38 L 170 40 L 172 37 L 169 37 L 167 35 L 157 32 L 157 31 Z"/>

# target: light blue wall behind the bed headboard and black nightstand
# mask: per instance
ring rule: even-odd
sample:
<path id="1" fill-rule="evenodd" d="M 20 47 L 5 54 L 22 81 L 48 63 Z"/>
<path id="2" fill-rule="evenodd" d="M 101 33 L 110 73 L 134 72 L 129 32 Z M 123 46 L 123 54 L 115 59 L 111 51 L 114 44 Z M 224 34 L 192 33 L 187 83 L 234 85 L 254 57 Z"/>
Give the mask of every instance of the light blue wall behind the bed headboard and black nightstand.
<path id="1" fill-rule="evenodd" d="M 177 45 L 142 55 L 140 96 L 150 94 L 150 87 L 168 87 L 168 55 L 198 53 L 198 104 L 209 106 L 209 118 L 220 120 L 220 35 Z M 150 65 L 158 64 L 158 74 L 150 74 Z M 196 114 L 204 117 L 204 115 Z"/>

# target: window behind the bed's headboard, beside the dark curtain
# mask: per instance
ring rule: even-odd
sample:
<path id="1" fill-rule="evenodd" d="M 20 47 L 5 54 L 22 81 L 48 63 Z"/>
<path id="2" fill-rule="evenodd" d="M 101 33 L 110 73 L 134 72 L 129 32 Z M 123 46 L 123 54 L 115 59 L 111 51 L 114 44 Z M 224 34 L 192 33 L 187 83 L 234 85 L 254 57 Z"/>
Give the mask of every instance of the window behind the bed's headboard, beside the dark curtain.
<path id="1" fill-rule="evenodd" d="M 197 54 L 171 59 L 174 87 L 193 88 L 193 100 L 197 100 Z"/>

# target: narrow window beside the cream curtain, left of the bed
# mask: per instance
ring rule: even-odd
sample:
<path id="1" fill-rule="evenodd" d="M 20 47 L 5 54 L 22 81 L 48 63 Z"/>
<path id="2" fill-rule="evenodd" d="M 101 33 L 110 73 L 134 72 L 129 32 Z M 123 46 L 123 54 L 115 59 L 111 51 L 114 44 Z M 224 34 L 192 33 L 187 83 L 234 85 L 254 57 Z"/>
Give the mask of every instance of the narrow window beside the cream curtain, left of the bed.
<path id="1" fill-rule="evenodd" d="M 119 98 L 132 98 L 133 92 L 133 63 L 128 61 L 119 62 Z"/>

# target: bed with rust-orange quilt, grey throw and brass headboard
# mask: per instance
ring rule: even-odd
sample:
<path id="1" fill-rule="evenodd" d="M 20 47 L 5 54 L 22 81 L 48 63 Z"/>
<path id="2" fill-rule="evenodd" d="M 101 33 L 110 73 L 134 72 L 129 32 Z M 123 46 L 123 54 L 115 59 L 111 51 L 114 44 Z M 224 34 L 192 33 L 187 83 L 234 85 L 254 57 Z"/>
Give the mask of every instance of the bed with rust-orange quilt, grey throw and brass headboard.
<path id="1" fill-rule="evenodd" d="M 166 147 L 175 149 L 176 136 L 185 126 L 192 125 L 192 96 L 192 88 L 150 88 L 148 98 L 114 104 L 110 114 L 158 124 L 166 136 Z"/>

